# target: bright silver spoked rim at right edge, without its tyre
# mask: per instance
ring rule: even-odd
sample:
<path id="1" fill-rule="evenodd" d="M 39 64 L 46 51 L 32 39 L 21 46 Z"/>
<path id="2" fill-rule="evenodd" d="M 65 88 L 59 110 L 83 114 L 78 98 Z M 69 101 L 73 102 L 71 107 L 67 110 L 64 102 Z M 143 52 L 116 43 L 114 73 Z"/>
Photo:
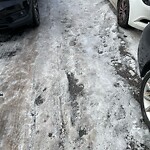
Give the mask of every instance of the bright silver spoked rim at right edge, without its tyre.
<path id="1" fill-rule="evenodd" d="M 150 120 L 150 79 L 145 84 L 143 102 L 146 116 Z"/>

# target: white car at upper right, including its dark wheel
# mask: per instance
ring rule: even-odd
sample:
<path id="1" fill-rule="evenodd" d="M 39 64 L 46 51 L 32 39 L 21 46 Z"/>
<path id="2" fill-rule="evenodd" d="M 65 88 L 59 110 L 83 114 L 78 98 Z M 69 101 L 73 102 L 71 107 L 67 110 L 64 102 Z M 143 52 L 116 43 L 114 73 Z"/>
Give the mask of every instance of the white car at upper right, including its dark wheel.
<path id="1" fill-rule="evenodd" d="M 118 24 L 143 30 L 150 22 L 150 0 L 109 0 L 117 9 Z"/>

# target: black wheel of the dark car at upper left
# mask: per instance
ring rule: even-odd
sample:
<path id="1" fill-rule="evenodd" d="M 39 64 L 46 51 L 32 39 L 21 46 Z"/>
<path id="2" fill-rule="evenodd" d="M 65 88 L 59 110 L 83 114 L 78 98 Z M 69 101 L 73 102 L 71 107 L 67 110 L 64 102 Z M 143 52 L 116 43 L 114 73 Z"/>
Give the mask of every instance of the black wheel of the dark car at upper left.
<path id="1" fill-rule="evenodd" d="M 37 0 L 33 0 L 32 14 L 33 14 L 32 26 L 38 27 L 40 25 L 40 14 L 39 14 L 39 8 L 38 8 Z"/>

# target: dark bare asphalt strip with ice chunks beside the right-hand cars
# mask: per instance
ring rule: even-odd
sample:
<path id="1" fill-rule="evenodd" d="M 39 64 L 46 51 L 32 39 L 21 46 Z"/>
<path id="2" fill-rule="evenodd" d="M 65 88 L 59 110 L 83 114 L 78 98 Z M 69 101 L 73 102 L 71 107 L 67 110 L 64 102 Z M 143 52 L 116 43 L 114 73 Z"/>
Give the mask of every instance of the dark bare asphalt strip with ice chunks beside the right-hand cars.
<path id="1" fill-rule="evenodd" d="M 128 56 L 131 58 L 131 60 L 135 60 L 135 58 L 127 51 L 127 42 L 125 40 L 124 33 L 122 33 L 119 29 L 119 27 L 117 28 L 118 30 L 118 39 L 120 39 L 123 43 L 120 43 L 119 46 L 119 52 L 120 52 L 120 56 L 122 58 Z M 121 58 L 121 59 L 122 59 Z M 123 59 L 122 59 L 123 60 Z M 131 86 L 131 94 L 134 96 L 134 98 L 139 101 L 139 89 L 140 89 L 140 83 L 141 83 L 141 79 L 138 76 L 138 74 L 133 70 L 132 67 L 129 66 L 129 64 L 126 64 L 126 62 L 121 62 L 118 63 L 118 60 L 115 60 L 115 58 L 112 58 L 112 64 L 114 65 L 114 68 L 117 72 L 118 75 L 120 75 L 121 77 L 123 77 L 128 84 Z M 129 71 L 134 72 L 134 75 L 131 75 L 131 73 Z M 114 85 L 116 86 L 116 85 Z"/>

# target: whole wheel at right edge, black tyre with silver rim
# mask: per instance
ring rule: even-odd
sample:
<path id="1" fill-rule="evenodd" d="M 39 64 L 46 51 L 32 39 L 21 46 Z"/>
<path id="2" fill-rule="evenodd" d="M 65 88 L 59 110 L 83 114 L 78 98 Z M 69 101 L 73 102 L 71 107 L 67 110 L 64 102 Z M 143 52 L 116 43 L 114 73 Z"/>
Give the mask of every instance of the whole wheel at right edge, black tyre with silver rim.
<path id="1" fill-rule="evenodd" d="M 146 74 L 142 81 L 140 104 L 144 121 L 150 129 L 150 71 Z"/>

